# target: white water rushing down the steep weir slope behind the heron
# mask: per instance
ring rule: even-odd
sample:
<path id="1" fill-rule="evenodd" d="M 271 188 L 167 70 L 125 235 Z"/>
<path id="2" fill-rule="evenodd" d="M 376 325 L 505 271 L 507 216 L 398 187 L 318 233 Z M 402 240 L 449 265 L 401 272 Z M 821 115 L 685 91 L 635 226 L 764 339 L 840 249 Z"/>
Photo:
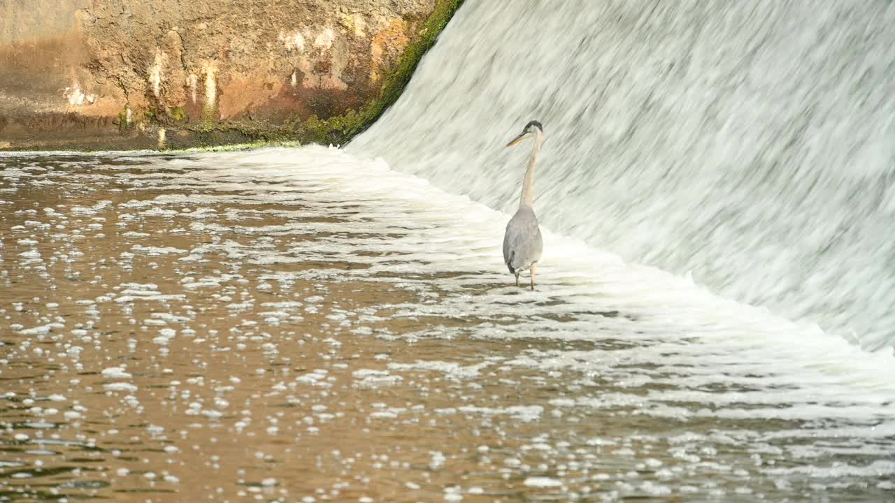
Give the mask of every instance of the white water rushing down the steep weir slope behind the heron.
<path id="1" fill-rule="evenodd" d="M 509 212 L 528 149 L 503 145 L 540 120 L 544 226 L 875 350 L 893 46 L 885 1 L 467 0 L 347 149 Z"/>

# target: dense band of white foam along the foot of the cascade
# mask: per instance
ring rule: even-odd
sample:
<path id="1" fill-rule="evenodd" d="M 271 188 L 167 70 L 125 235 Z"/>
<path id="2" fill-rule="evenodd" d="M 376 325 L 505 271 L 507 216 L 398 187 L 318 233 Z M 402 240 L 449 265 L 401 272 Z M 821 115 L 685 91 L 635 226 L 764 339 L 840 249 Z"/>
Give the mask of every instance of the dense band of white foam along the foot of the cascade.
<path id="1" fill-rule="evenodd" d="M 369 264 L 369 268 L 347 271 L 358 277 L 432 274 L 438 272 L 465 273 L 451 279 L 451 285 L 469 286 L 482 282 L 496 284 L 474 297 L 459 295 L 440 299 L 439 303 L 407 306 L 417 314 L 447 315 L 451 311 L 465 315 L 494 316 L 500 313 L 541 314 L 597 313 L 595 320 L 585 320 L 581 328 L 609 328 L 630 323 L 626 318 L 604 318 L 601 312 L 621 311 L 641 316 L 639 328 L 659 329 L 674 340 L 697 335 L 712 345 L 736 350 L 737 362 L 754 361 L 756 365 L 774 361 L 805 362 L 813 367 L 826 368 L 831 375 L 852 375 L 866 388 L 891 389 L 895 366 L 891 352 L 867 354 L 849 345 L 840 337 L 825 334 L 810 323 L 797 323 L 770 311 L 732 302 L 712 294 L 703 286 L 694 285 L 686 278 L 677 277 L 661 269 L 626 264 L 608 252 L 593 249 L 586 243 L 551 233 L 544 229 L 545 253 L 539 278 L 542 288 L 530 293 L 510 284 L 510 277 L 502 269 L 499 243 L 507 215 L 475 203 L 465 196 L 442 192 L 425 180 L 404 175 L 388 168 L 381 160 L 355 158 L 337 149 L 311 147 L 306 149 L 264 149 L 242 153 L 230 159 L 235 166 L 226 170 L 209 170 L 207 175 L 222 187 L 248 178 L 283 180 L 268 185 L 277 192 L 297 192 L 296 200 L 305 203 L 348 199 L 350 203 L 365 202 L 361 215 L 345 217 L 343 228 L 377 226 L 367 230 L 386 233 L 391 230 L 416 228 L 424 233 L 389 236 L 357 237 L 351 243 L 338 240 L 291 245 L 289 250 L 303 253 L 299 260 L 337 260 L 348 258 L 355 263 Z M 220 162 L 220 161 L 216 161 Z M 263 166 L 263 167 L 261 167 Z M 225 173 L 226 171 L 226 173 Z M 194 173 L 191 177 L 197 176 Z M 288 177 L 283 179 L 281 177 Z M 321 183 L 320 180 L 325 180 Z M 317 189 L 324 184 L 328 191 Z M 395 187 L 402 190 L 396 191 Z M 344 195 L 343 195 L 344 194 Z M 263 195 L 253 196 L 263 199 Z M 347 204 L 347 203 L 346 203 Z M 410 217 L 412 216 L 412 217 Z M 367 219 L 372 223 L 367 222 Z M 317 229 L 328 229 L 323 224 Z M 375 234 L 373 232 L 367 234 Z M 233 250 L 241 247 L 234 243 Z M 308 254 L 311 249 L 316 253 Z M 400 261 L 383 264 L 378 257 L 358 257 L 357 252 L 400 252 Z M 252 249 L 253 254 L 265 250 Z M 270 264 L 288 263 L 281 250 L 270 250 Z M 394 262 L 394 263 L 393 263 Z M 411 278 L 403 281 L 413 284 Z M 505 288 L 497 287 L 507 284 Z M 566 303 L 539 306 L 537 303 L 510 303 L 510 300 L 562 298 Z M 469 302 L 475 300 L 479 302 Z M 314 302 L 314 298 L 306 299 Z M 533 305 L 534 304 L 534 305 Z M 590 325 L 595 321 L 597 325 Z M 549 320 L 542 320 L 550 326 Z M 561 325 L 556 323 L 556 325 Z M 676 327 L 686 327 L 678 333 Z M 699 328 L 694 331 L 694 328 Z M 573 328 L 586 334 L 587 330 Z M 495 335 L 500 335 L 495 332 Z M 550 333 L 543 333 L 550 337 Z M 558 332 L 556 336 L 561 336 Z M 507 337 L 511 337 L 507 334 Z M 627 336 L 630 337 L 630 336 Z M 692 354 L 691 360 L 705 359 L 702 346 L 680 345 L 682 357 Z M 638 350 L 647 359 L 650 350 Z M 767 354 L 764 354 L 764 352 Z M 776 354 L 774 356 L 773 354 Z M 762 360 L 768 356 L 769 361 Z M 749 356 L 750 358 L 746 358 Z M 708 355 L 711 359 L 713 355 Z M 720 358 L 721 356 L 719 356 Z M 731 355 L 731 357 L 733 357 Z M 810 363 L 809 363 L 810 362 Z M 875 377 L 874 377 L 875 375 Z"/>

